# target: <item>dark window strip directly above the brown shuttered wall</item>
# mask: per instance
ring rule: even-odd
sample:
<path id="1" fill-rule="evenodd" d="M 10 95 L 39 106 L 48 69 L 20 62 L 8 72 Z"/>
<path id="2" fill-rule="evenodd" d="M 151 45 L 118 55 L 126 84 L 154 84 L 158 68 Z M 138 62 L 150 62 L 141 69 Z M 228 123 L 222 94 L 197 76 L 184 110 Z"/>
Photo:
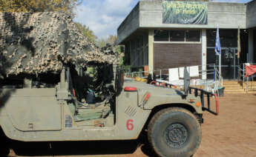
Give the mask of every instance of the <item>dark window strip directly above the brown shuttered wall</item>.
<path id="1" fill-rule="evenodd" d="M 154 30 L 154 41 L 200 42 L 200 30 Z"/>

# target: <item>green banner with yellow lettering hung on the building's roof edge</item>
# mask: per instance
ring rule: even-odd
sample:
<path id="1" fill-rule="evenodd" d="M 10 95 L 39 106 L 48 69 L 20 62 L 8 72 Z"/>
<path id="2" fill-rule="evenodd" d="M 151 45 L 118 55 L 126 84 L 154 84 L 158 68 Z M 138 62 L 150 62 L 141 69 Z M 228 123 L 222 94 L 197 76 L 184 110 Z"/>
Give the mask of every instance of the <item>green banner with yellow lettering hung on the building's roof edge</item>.
<path id="1" fill-rule="evenodd" d="M 164 24 L 208 24 L 204 1 L 163 1 Z"/>

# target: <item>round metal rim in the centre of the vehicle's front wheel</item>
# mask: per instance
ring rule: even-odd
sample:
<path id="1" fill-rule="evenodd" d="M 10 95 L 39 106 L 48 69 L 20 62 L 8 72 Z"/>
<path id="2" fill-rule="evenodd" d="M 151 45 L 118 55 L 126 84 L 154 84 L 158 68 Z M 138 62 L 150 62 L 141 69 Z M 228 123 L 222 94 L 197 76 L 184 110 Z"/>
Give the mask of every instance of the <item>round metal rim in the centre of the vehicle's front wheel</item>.
<path id="1" fill-rule="evenodd" d="M 171 124 L 165 129 L 165 142 L 173 148 L 180 148 L 188 139 L 188 130 L 183 124 Z"/>

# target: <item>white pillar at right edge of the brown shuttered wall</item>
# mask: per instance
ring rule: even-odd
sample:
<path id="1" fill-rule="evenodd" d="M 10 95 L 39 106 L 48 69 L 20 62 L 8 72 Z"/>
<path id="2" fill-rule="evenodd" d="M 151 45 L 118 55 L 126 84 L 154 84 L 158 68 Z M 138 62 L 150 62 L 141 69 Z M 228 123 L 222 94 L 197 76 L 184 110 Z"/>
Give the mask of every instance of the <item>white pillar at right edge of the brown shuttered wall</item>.
<path id="1" fill-rule="evenodd" d="M 202 30 L 202 70 L 206 70 L 207 64 L 207 39 L 206 39 L 206 29 Z M 207 79 L 207 73 L 202 73 L 202 79 Z"/>

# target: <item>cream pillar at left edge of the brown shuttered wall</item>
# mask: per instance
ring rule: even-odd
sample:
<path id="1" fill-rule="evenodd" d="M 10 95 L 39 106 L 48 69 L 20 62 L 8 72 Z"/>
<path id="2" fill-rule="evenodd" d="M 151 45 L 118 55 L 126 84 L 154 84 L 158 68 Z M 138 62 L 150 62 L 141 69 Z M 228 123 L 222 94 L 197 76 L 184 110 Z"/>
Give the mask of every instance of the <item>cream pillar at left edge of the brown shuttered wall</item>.
<path id="1" fill-rule="evenodd" d="M 148 30 L 148 70 L 154 70 L 154 30 Z"/>

